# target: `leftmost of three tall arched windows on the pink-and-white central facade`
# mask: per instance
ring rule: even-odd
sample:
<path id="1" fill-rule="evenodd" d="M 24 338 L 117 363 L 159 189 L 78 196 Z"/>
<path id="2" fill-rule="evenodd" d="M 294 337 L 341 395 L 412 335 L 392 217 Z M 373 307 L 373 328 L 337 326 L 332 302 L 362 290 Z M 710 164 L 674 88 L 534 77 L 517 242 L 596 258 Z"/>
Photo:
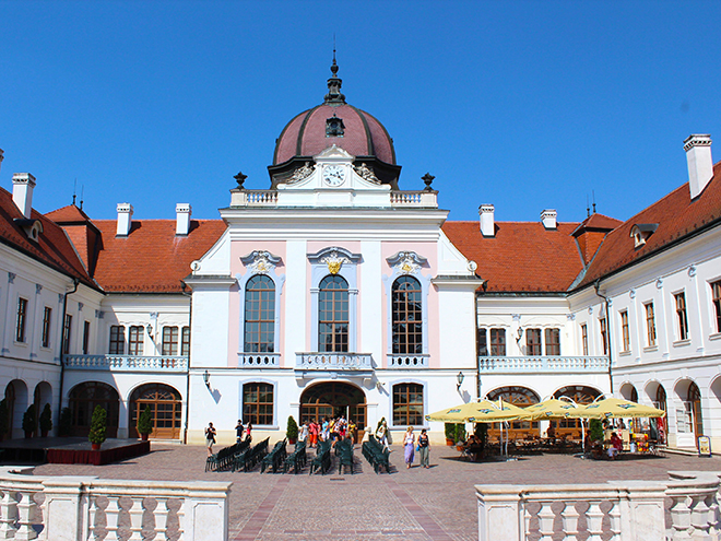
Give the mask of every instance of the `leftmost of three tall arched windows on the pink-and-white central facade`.
<path id="1" fill-rule="evenodd" d="M 275 284 L 256 274 L 246 285 L 245 345 L 247 353 L 272 353 L 275 349 Z"/>

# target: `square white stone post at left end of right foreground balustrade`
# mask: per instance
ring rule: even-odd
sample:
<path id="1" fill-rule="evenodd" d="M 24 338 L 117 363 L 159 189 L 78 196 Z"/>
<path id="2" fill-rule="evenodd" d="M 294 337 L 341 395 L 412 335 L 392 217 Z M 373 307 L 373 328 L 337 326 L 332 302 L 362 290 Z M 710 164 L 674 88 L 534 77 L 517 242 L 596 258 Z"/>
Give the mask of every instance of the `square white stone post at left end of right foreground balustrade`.
<path id="1" fill-rule="evenodd" d="M 521 487 L 476 485 L 478 541 L 525 541 Z"/>

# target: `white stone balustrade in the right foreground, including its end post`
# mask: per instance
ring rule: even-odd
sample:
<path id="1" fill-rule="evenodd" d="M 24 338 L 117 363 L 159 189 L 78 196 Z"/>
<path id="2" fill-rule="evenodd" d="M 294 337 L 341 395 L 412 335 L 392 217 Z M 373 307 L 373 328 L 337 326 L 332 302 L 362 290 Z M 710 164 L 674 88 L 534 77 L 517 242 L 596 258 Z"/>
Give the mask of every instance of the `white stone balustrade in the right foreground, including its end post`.
<path id="1" fill-rule="evenodd" d="M 478 540 L 719 541 L 721 473 L 670 475 L 665 482 L 476 485 Z M 667 499 L 670 529 L 665 517 Z"/>

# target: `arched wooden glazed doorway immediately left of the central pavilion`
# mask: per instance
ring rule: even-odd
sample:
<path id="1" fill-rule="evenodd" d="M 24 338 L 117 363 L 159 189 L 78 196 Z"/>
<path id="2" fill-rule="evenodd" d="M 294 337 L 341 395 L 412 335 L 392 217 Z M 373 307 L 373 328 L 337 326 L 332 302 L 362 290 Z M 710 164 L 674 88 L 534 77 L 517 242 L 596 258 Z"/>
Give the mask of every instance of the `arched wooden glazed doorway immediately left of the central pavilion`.
<path id="1" fill-rule="evenodd" d="M 182 399 L 180 393 L 164 384 L 146 384 L 138 387 L 130 396 L 130 437 L 139 437 L 138 416 L 150 405 L 153 413 L 153 432 L 157 439 L 180 438 L 182 423 Z"/>

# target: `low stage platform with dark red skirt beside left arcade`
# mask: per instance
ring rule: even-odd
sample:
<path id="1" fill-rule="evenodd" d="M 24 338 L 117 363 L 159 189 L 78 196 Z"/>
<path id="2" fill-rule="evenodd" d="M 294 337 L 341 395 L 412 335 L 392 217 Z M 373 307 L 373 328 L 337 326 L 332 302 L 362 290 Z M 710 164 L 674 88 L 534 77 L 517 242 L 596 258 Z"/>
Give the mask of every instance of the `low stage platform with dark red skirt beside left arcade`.
<path id="1" fill-rule="evenodd" d="M 85 437 L 34 437 L 0 442 L 4 463 L 56 463 L 103 466 L 147 455 L 150 442 L 106 439 L 101 450 L 92 450 Z"/>

